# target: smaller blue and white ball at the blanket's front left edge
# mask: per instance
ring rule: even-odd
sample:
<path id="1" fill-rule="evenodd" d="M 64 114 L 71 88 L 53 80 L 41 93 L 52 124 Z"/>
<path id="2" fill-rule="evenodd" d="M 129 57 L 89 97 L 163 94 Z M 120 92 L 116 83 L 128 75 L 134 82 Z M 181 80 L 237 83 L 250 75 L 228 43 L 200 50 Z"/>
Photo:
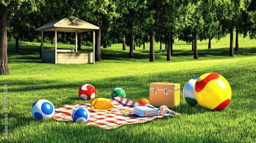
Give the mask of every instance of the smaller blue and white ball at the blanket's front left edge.
<path id="1" fill-rule="evenodd" d="M 90 112 L 86 108 L 79 107 L 73 111 L 72 118 L 75 123 L 87 123 L 90 120 Z"/>

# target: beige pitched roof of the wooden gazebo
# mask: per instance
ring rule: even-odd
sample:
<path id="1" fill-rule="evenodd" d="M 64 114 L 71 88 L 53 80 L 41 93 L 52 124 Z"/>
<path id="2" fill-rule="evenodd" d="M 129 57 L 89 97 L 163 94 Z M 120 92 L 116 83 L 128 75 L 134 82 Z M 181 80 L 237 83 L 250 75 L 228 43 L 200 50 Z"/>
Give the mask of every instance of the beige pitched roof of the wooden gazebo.
<path id="1" fill-rule="evenodd" d="M 56 28 L 56 30 L 60 32 L 84 32 L 99 29 L 99 27 L 74 16 L 71 16 L 71 18 L 73 21 L 70 21 L 69 18 L 64 18 L 62 20 L 52 21 L 44 26 L 37 28 L 36 30 L 55 31 Z"/>

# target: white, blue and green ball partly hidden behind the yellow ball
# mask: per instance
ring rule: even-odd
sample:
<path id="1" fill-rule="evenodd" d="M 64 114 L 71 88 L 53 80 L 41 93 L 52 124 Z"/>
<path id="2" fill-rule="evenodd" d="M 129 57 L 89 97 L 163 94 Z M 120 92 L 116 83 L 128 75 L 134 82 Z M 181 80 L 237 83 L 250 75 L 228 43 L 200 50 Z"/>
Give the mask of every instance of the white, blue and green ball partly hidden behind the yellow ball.
<path id="1" fill-rule="evenodd" d="M 191 107 L 200 107 L 195 97 L 195 84 L 198 78 L 190 79 L 183 88 L 183 98 Z"/>

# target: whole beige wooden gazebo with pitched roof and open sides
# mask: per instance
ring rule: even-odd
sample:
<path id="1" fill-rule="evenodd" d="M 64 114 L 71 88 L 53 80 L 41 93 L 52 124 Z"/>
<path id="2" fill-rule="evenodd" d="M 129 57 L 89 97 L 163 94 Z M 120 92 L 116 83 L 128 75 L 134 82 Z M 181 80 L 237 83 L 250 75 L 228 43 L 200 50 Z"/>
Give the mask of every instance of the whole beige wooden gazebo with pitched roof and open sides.
<path id="1" fill-rule="evenodd" d="M 36 30 L 41 31 L 41 61 L 44 63 L 84 64 L 95 63 L 95 30 L 99 27 L 74 16 L 52 21 Z M 44 31 L 55 31 L 55 49 L 44 50 Z M 93 52 L 77 52 L 77 32 L 93 31 Z M 75 50 L 57 49 L 57 32 L 75 32 Z"/>

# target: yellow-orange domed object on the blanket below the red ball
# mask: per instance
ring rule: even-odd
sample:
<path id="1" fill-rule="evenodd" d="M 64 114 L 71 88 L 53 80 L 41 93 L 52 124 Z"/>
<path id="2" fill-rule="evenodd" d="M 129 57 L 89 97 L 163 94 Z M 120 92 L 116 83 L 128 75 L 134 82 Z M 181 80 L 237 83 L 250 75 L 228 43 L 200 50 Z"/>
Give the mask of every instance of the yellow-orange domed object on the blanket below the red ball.
<path id="1" fill-rule="evenodd" d="M 108 99 L 96 98 L 92 101 L 91 108 L 96 110 L 112 110 L 114 107 Z"/>

